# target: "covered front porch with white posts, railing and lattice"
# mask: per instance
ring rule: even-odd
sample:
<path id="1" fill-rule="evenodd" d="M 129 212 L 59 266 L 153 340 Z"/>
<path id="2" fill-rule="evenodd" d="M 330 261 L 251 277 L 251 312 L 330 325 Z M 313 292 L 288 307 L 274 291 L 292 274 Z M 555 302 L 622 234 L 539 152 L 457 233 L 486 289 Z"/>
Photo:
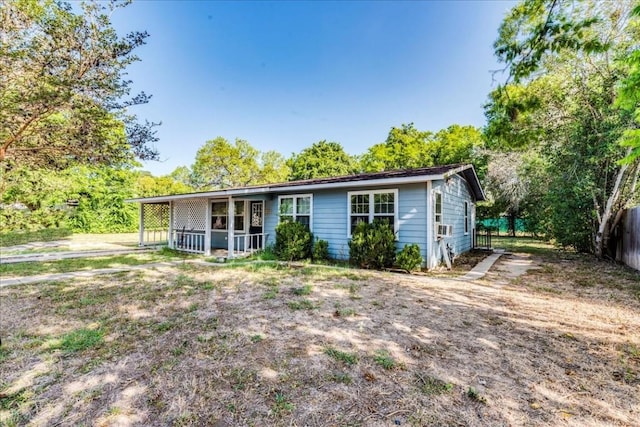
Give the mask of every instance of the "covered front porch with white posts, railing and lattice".
<path id="1" fill-rule="evenodd" d="M 139 245 L 236 258 L 262 250 L 264 198 L 192 197 L 141 202 Z"/>

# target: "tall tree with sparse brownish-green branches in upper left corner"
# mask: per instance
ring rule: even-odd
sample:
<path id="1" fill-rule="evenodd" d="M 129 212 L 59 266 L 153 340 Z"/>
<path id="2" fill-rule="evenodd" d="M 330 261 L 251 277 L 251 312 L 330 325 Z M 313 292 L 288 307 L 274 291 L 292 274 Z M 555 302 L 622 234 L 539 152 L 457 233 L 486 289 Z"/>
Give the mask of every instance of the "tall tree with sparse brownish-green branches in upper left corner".
<path id="1" fill-rule="evenodd" d="M 128 108 L 125 78 L 146 32 L 118 37 L 109 16 L 124 4 L 53 0 L 0 6 L 0 162 L 63 169 L 75 163 L 156 159 L 155 124 Z"/>

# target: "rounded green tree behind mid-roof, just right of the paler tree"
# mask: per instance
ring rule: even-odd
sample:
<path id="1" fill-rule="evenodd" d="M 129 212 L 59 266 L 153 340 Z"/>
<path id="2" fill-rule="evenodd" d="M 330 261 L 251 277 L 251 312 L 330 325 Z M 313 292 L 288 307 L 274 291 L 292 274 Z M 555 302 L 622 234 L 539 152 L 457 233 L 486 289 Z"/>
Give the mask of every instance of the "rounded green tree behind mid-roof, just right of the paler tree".
<path id="1" fill-rule="evenodd" d="M 358 171 L 356 160 L 344 151 L 342 145 L 325 140 L 293 154 L 287 164 L 291 168 L 290 181 L 349 175 Z"/>

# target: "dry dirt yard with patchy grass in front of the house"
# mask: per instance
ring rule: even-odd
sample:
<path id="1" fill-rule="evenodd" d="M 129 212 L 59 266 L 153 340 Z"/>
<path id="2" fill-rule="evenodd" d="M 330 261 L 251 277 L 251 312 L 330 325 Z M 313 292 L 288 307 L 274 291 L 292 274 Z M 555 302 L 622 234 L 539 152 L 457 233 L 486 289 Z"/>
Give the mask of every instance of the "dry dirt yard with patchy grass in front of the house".
<path id="1" fill-rule="evenodd" d="M 476 282 L 183 264 L 0 304 L 9 426 L 640 422 L 640 274 L 574 254 Z"/>

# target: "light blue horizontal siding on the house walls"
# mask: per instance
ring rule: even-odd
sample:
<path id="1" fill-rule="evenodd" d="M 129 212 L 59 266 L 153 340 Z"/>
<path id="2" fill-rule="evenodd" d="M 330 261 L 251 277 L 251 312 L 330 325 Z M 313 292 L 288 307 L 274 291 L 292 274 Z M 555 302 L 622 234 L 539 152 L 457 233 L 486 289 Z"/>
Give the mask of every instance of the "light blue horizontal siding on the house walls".
<path id="1" fill-rule="evenodd" d="M 435 232 L 434 194 L 442 194 L 442 224 L 452 226 L 452 236 L 444 237 L 443 242 L 448 244 L 455 255 L 459 255 L 471 249 L 474 233 L 475 206 L 473 197 L 466 181 L 459 175 L 447 178 L 446 181 L 398 184 L 394 186 L 380 187 L 345 187 L 340 189 L 305 191 L 304 186 L 299 192 L 251 194 L 236 196 L 234 200 L 262 200 L 264 202 L 264 233 L 268 236 L 265 243 L 275 243 L 275 228 L 279 221 L 278 197 L 294 194 L 312 194 L 312 227 L 311 231 L 316 239 L 329 242 L 329 254 L 336 259 L 349 258 L 349 224 L 348 213 L 349 192 L 374 192 L 384 190 L 396 190 L 397 199 L 397 230 L 398 239 L 396 247 L 401 250 L 406 244 L 415 243 L 420 247 L 420 252 L 425 265 L 429 268 L 438 265 L 442 259 L 439 240 Z M 217 200 L 209 199 L 203 203 L 212 203 Z M 465 201 L 468 202 L 468 230 L 465 233 Z M 205 206 L 205 205 L 203 205 Z M 211 218 L 206 218 L 211 221 Z M 248 232 L 250 222 L 249 204 L 245 210 L 245 232 L 236 232 L 242 235 Z M 212 231 L 211 247 L 227 248 L 228 233 Z M 242 249 L 242 248 L 240 248 Z"/>

